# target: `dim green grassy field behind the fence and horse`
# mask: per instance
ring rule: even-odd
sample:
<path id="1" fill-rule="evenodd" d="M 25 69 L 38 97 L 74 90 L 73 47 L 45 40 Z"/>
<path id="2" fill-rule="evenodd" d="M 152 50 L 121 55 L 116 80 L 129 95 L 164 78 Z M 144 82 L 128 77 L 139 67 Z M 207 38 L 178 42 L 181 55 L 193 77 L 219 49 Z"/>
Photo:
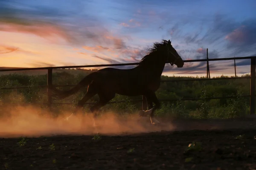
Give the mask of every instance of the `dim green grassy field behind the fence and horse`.
<path id="1" fill-rule="evenodd" d="M 74 85 L 84 76 L 89 74 L 89 70 L 58 70 L 53 72 L 54 85 Z M 250 77 L 250 75 L 245 75 Z M 199 77 L 196 77 L 199 78 Z M 204 79 L 205 77 L 201 77 Z M 162 76 L 162 80 L 195 79 L 193 77 L 167 77 Z M 0 90 L 0 113 L 8 113 L 6 105 L 36 105 L 42 110 L 46 108 L 47 96 L 46 88 L 36 86 L 47 85 L 47 74 L 0 74 L 0 88 L 27 86 L 28 88 Z M 70 87 L 61 87 L 68 89 Z M 250 79 L 232 79 L 215 81 L 189 81 L 189 82 L 163 82 L 157 91 L 158 99 L 187 99 L 187 98 L 209 98 L 242 96 L 250 93 Z M 73 103 L 72 105 L 53 105 L 52 111 L 55 116 L 63 111 L 73 111 L 77 102 L 86 88 L 78 94 L 54 101 L 55 103 Z M 131 99 L 141 99 L 141 96 L 127 97 L 116 95 L 112 101 L 127 100 L 125 103 L 108 104 L 101 111 L 114 111 L 119 115 L 131 114 L 141 109 L 141 102 L 132 102 Z M 94 96 L 88 102 L 96 102 L 98 96 Z M 249 97 L 237 97 L 234 99 L 210 99 L 198 101 L 170 101 L 162 102 L 161 109 L 156 112 L 157 116 L 174 116 L 182 118 L 207 119 L 207 118 L 235 118 L 249 113 Z M 88 111 L 89 106 L 84 106 L 84 111 Z"/>

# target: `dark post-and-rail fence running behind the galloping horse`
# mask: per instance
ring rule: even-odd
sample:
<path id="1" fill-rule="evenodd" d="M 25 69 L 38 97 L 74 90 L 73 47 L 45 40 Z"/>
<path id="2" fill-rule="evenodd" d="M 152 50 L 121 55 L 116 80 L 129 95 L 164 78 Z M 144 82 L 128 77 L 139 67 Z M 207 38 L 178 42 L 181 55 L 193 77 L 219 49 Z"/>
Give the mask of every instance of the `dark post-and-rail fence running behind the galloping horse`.
<path id="1" fill-rule="evenodd" d="M 208 51 L 208 48 L 207 48 Z M 250 59 L 250 77 L 221 77 L 221 78 L 210 78 L 209 74 L 209 61 L 224 61 L 224 60 L 237 60 L 237 59 Z M 208 81 L 208 80 L 220 80 L 220 79 L 249 79 L 250 78 L 250 95 L 245 96 L 228 96 L 228 97 L 212 97 L 212 98 L 197 98 L 197 99 L 160 99 L 160 101 L 177 101 L 177 100 L 207 100 L 207 99 L 227 99 L 227 98 L 236 98 L 236 97 L 250 97 L 250 114 L 255 113 L 255 80 L 256 80 L 256 56 L 251 57 L 230 57 L 230 58 L 215 58 L 209 59 L 208 53 L 206 59 L 193 59 L 193 60 L 184 60 L 184 62 L 207 62 L 207 78 L 199 78 L 199 79 L 180 79 L 180 80 L 162 80 L 161 82 L 181 82 L 181 81 Z M 168 63 L 168 62 L 166 62 Z M 139 63 L 123 63 L 123 64 L 102 64 L 102 65 L 76 65 L 76 66 L 57 66 L 57 67 L 40 67 L 40 68 L 13 68 L 13 69 L 2 69 L 0 71 L 28 71 L 28 70 L 44 70 L 46 69 L 47 72 L 47 85 L 45 86 L 35 86 L 35 87 L 67 87 L 67 86 L 74 86 L 74 85 L 52 85 L 52 70 L 53 69 L 61 69 L 61 68 L 92 68 L 92 67 L 109 67 L 109 66 L 125 66 L 125 65 L 138 65 Z M 236 67 L 236 65 L 235 65 Z M 235 68 L 236 69 L 236 68 Z M 236 71 L 236 70 L 235 70 Z M 209 75 L 209 78 L 208 78 Z M 12 88 L 0 88 L 0 90 L 6 89 L 22 89 L 22 88 L 29 88 L 29 87 L 12 87 Z M 52 103 L 52 97 L 50 96 L 51 91 L 47 88 L 47 107 L 51 108 L 52 104 L 61 104 L 61 103 Z M 142 99 L 138 100 L 131 100 L 131 101 L 142 101 L 142 109 L 146 110 L 147 102 L 145 96 Z M 119 101 L 119 102 L 126 102 L 126 101 Z M 119 102 L 109 102 L 109 103 L 119 103 Z M 71 104 L 71 103 L 62 103 L 62 104 Z M 87 104 L 94 104 L 94 103 L 87 103 Z"/>

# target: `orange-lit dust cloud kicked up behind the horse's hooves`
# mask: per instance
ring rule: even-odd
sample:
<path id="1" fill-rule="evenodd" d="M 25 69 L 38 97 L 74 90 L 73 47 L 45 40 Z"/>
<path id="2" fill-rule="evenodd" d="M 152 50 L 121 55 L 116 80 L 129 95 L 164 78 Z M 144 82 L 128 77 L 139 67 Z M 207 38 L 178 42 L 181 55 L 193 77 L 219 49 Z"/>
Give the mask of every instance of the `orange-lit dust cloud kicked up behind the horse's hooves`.
<path id="1" fill-rule="evenodd" d="M 16 106 L 9 108 L 9 115 L 0 118 L 0 137 L 39 137 L 52 135 L 122 135 L 134 133 L 148 133 L 161 130 L 172 130 L 171 124 L 154 126 L 149 117 L 139 117 L 137 114 L 125 117 L 116 113 L 102 113 L 96 120 L 97 129 L 93 127 L 91 114 L 72 115 L 63 113 L 61 116 L 51 116 L 45 111 L 39 113 L 35 106 Z M 2 114 L 2 113 L 1 113 Z M 2 114 L 3 115 L 3 114 Z"/>

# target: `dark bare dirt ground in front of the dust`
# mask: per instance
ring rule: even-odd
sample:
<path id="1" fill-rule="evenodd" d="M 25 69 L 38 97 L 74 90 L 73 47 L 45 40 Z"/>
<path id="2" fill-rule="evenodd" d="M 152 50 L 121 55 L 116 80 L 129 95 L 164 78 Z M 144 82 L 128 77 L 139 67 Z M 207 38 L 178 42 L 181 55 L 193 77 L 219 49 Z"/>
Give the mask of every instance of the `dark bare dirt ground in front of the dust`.
<path id="1" fill-rule="evenodd" d="M 161 126 L 147 125 L 150 129 L 147 132 L 133 134 L 101 131 L 103 134 L 99 136 L 71 133 L 26 138 L 2 136 L 0 169 L 256 169 L 255 119 L 162 119 L 161 122 Z M 165 128 L 169 125 L 172 130 Z M 196 145 L 189 147 L 192 142 Z"/>

